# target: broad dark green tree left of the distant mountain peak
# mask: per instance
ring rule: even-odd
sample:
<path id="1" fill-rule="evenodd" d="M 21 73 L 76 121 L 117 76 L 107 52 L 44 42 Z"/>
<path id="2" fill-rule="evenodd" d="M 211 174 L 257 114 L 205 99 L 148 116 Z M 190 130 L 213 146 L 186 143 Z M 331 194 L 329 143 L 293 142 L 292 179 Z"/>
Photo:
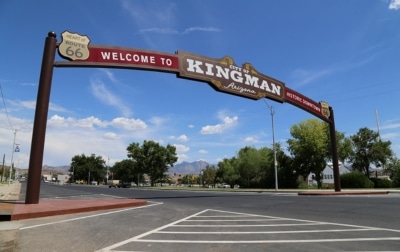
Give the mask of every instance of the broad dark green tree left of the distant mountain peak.
<path id="1" fill-rule="evenodd" d="M 142 146 L 139 143 L 131 143 L 127 151 L 128 157 L 132 158 L 135 165 L 150 176 L 151 186 L 162 180 L 164 173 L 178 160 L 175 146 L 168 144 L 164 147 L 154 141 L 145 140 Z"/>

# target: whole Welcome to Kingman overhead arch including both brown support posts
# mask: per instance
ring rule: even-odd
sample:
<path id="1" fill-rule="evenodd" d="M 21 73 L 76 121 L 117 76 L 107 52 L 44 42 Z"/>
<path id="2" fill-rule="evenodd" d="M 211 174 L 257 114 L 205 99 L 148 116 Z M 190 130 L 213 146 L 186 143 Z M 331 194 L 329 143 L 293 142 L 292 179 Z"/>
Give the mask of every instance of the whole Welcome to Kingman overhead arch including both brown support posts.
<path id="1" fill-rule="evenodd" d="M 57 43 L 56 34 L 49 32 L 45 41 L 25 203 L 37 204 L 39 201 L 44 139 L 54 67 L 102 67 L 174 73 L 178 78 L 208 83 L 219 92 L 252 100 L 267 98 L 280 103 L 290 103 L 329 124 L 335 191 L 340 191 L 335 123 L 333 110 L 328 103 L 313 101 L 286 87 L 282 81 L 260 73 L 250 63 L 238 66 L 230 56 L 214 59 L 184 51 L 171 54 L 136 48 L 93 45 L 88 36 L 69 31 L 64 31 L 61 38 L 61 42 Z M 67 61 L 55 62 L 56 51 Z"/>

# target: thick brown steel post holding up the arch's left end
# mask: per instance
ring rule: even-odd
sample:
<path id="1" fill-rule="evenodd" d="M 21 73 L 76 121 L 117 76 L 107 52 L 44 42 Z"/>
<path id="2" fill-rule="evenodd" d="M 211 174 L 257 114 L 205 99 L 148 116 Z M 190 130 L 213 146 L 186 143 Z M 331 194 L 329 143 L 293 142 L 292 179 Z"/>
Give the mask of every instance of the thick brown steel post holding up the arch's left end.
<path id="1" fill-rule="evenodd" d="M 51 80 L 53 78 L 53 64 L 56 49 L 56 34 L 55 32 L 49 32 L 44 44 L 39 89 L 36 99 L 35 121 L 33 123 L 25 204 L 39 203 L 44 141 L 46 136 L 47 114 L 49 111 Z"/>

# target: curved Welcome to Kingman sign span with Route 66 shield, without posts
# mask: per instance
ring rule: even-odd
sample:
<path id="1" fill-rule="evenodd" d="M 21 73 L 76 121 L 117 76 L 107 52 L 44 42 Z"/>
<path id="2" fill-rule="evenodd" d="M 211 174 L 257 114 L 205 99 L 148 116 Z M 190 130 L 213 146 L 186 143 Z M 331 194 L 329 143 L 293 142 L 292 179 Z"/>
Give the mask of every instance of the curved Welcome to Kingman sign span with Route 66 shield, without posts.
<path id="1" fill-rule="evenodd" d="M 177 77 L 208 83 L 219 92 L 252 100 L 268 98 L 288 102 L 329 122 L 329 104 L 317 103 L 285 87 L 282 81 L 258 72 L 252 64 L 235 64 L 233 58 L 209 58 L 184 51 L 175 54 L 137 48 L 90 44 L 87 36 L 65 31 L 58 54 L 67 62 L 54 62 L 58 67 L 130 68 L 176 73 Z"/>

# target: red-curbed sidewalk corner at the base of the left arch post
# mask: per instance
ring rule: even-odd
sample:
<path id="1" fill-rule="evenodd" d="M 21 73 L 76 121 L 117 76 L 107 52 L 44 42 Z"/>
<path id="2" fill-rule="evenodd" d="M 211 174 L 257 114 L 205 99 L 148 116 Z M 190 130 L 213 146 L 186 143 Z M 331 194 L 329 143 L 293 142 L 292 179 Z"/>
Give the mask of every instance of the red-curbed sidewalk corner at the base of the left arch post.
<path id="1" fill-rule="evenodd" d="M 19 199 L 20 191 L 21 184 L 18 182 L 0 185 L 0 222 L 147 205 L 146 200 L 106 196 L 39 199 L 38 204 L 25 204 Z"/>

